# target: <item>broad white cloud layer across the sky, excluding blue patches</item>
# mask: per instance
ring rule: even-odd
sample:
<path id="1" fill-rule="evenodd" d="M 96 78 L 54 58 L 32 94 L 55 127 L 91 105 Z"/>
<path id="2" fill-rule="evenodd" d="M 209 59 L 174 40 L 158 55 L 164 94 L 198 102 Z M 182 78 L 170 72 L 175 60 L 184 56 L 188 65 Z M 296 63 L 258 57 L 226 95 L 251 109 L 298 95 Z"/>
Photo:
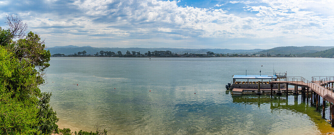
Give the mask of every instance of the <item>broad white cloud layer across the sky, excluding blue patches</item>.
<path id="1" fill-rule="evenodd" d="M 46 5 L 56 2 L 48 1 Z M 147 40 L 156 43 L 163 41 L 164 46 L 169 45 L 167 43 L 204 46 L 206 43 L 198 41 L 236 41 L 243 38 L 261 42 L 262 39 L 282 37 L 287 41 L 298 37 L 312 41 L 309 43 L 333 43 L 334 2 L 331 1 L 230 1 L 245 4 L 239 12 L 254 14 L 249 16 L 231 14 L 223 9 L 181 7 L 178 3 L 157 0 L 77 0 L 69 4 L 66 10 L 71 12 L 66 14 L 63 13 L 65 10 L 54 10 L 22 11 L 18 15 L 33 31 L 45 37 L 51 46 L 99 42 L 97 45 L 100 46 L 119 47 L 145 45 Z M 223 4 L 215 5 L 220 6 Z M 4 13 L 9 12 L 13 11 Z M 55 41 L 60 43 L 51 44 Z"/>

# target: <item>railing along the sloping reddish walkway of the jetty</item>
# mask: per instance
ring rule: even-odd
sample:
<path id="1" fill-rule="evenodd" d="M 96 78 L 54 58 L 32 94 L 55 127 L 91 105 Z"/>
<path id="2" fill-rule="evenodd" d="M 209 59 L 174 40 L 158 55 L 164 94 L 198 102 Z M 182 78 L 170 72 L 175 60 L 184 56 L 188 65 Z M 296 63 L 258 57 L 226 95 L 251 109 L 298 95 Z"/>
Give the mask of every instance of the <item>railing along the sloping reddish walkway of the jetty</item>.
<path id="1" fill-rule="evenodd" d="M 274 81 L 274 78 L 272 77 L 272 81 Z M 284 82 L 288 82 L 288 83 L 293 83 L 295 82 L 295 84 L 300 84 L 300 85 L 307 85 L 309 88 L 311 88 L 314 91 L 317 91 L 320 95 L 325 96 L 326 94 L 330 95 L 333 97 L 333 86 L 330 87 L 323 87 L 321 85 L 316 84 L 313 81 L 309 81 L 307 79 L 305 79 L 302 76 L 289 76 L 286 78 L 282 78 L 277 80 L 278 82 L 284 81 Z M 298 83 L 301 82 L 301 83 Z M 320 84 L 320 83 L 319 83 Z"/>

